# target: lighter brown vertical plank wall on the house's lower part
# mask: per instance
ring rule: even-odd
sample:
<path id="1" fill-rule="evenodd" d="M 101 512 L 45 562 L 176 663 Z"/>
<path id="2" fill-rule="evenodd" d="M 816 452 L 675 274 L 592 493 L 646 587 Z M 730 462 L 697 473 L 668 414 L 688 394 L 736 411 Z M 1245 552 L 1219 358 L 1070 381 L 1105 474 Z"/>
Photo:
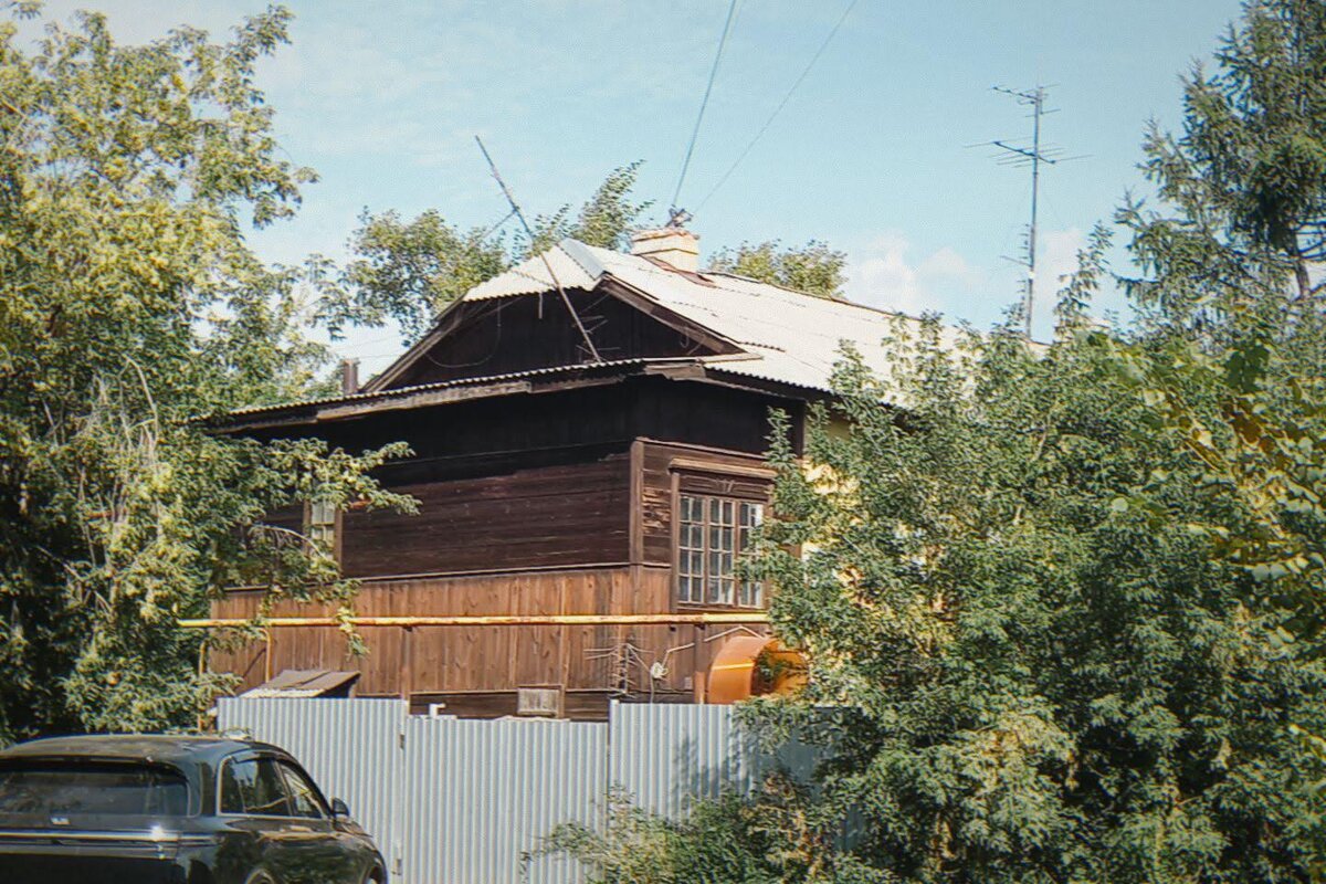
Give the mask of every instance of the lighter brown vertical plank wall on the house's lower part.
<path id="1" fill-rule="evenodd" d="M 517 575 L 472 575 L 366 582 L 355 604 L 363 616 L 485 614 L 652 614 L 671 598 L 671 571 L 659 567 L 569 569 Z M 261 602 L 257 590 L 225 594 L 219 618 L 252 618 Z M 278 603 L 273 616 L 322 616 L 317 606 Z M 282 669 L 350 669 L 361 672 L 361 696 L 411 696 L 447 692 L 500 692 L 525 685 L 564 684 L 568 691 L 636 694 L 688 693 L 697 669 L 707 669 L 728 627 L 594 626 L 594 627 L 362 627 L 369 653 L 351 657 L 345 636 L 333 627 L 271 631 L 261 641 L 213 651 L 213 671 L 243 677 L 240 691 Z M 614 671 L 610 652 L 636 651 L 625 673 Z M 684 647 L 690 645 L 690 647 Z M 676 648 L 672 653 L 668 649 Z M 267 659 L 271 653 L 271 659 Z M 652 681 L 648 664 L 666 660 L 668 676 Z"/>

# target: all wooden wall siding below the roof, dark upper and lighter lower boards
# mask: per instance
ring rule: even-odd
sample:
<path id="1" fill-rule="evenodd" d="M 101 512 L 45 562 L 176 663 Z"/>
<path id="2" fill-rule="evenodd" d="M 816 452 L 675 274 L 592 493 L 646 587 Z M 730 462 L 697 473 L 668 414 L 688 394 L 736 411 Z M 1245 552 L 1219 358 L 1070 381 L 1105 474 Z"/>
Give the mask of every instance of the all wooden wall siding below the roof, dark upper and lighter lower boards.
<path id="1" fill-rule="evenodd" d="M 383 411 L 302 432 L 349 451 L 404 440 L 414 452 L 378 476 L 418 497 L 418 516 L 351 512 L 342 520 L 346 573 L 365 579 L 361 615 L 668 614 L 674 477 L 713 493 L 758 496 L 770 407 L 800 408 L 765 394 L 650 376 Z M 298 526 L 302 513 L 273 520 Z M 260 598 L 229 592 L 213 614 L 251 618 Z M 273 614 L 325 611 L 281 604 Z M 503 714 L 522 685 L 565 685 L 577 697 L 568 708 L 585 709 L 614 693 L 688 696 L 729 632 L 363 627 L 369 655 L 355 659 L 335 628 L 300 627 L 273 630 L 269 648 L 256 643 L 211 660 L 240 673 L 244 687 L 282 669 L 350 668 L 362 672 L 361 694 L 434 698 L 456 709 L 469 697 L 483 714 Z M 651 663 L 664 663 L 667 675 L 651 679 Z"/>

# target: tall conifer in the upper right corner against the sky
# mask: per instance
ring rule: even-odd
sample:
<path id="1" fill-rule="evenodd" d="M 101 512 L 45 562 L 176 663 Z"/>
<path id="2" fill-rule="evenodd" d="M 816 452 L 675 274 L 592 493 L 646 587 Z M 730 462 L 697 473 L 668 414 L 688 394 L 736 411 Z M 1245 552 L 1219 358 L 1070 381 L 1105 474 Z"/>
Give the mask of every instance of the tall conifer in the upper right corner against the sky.
<path id="1" fill-rule="evenodd" d="M 1120 212 L 1151 273 L 1132 281 L 1139 305 L 1185 322 L 1315 298 L 1326 258 L 1326 8 L 1249 3 L 1217 62 L 1184 78 L 1181 135 L 1148 129 L 1143 168 L 1167 211 Z"/>

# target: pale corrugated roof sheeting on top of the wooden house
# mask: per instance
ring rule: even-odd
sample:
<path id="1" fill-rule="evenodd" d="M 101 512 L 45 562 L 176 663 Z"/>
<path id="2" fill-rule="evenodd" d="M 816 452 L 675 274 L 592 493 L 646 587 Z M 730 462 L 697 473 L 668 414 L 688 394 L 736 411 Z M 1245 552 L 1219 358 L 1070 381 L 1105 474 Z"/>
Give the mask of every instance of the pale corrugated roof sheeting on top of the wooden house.
<path id="1" fill-rule="evenodd" d="M 700 280 L 643 257 L 562 240 L 545 252 L 562 288 L 593 289 L 605 276 L 629 285 L 674 313 L 739 343 L 753 359 L 721 360 L 721 368 L 780 383 L 829 391 L 842 345 L 853 345 L 880 376 L 892 355 L 883 346 L 899 331 L 915 331 L 920 321 L 850 301 L 817 298 L 777 285 L 729 273 L 701 273 Z M 701 281 L 703 280 L 703 281 Z M 467 301 L 533 294 L 553 289 L 540 257 L 533 257 L 465 294 Z M 955 345 L 959 330 L 945 327 L 944 342 Z"/>

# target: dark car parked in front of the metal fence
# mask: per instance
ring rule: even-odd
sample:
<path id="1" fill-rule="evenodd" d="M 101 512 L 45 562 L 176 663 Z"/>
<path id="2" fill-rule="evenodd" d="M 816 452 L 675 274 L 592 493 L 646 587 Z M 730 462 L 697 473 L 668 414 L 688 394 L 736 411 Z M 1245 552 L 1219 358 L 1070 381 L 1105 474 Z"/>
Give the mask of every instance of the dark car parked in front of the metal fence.
<path id="1" fill-rule="evenodd" d="M 387 884 L 289 754 L 216 737 L 58 737 L 0 751 L 4 884 Z"/>

